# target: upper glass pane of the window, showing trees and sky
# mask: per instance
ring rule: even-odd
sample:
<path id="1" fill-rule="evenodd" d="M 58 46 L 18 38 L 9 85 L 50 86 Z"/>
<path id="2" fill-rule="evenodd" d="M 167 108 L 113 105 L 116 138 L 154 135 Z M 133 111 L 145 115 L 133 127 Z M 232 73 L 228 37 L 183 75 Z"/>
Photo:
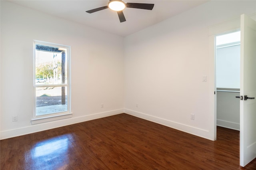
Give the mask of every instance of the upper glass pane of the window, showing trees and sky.
<path id="1" fill-rule="evenodd" d="M 44 48 L 43 48 L 44 47 Z M 51 49 L 52 51 L 44 51 Z M 67 59 L 66 49 L 37 45 L 35 58 L 36 84 L 66 84 Z"/>

